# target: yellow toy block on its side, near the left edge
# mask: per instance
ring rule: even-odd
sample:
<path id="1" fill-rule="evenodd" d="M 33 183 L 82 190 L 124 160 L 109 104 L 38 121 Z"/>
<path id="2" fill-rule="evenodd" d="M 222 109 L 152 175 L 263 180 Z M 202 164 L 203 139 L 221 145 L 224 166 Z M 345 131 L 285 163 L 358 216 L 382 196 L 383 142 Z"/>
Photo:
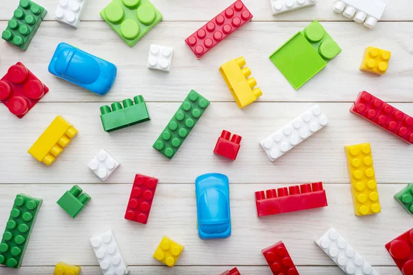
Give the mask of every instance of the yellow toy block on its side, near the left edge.
<path id="1" fill-rule="evenodd" d="M 50 165 L 77 133 L 72 124 L 58 115 L 30 147 L 28 153 L 39 162 Z"/>

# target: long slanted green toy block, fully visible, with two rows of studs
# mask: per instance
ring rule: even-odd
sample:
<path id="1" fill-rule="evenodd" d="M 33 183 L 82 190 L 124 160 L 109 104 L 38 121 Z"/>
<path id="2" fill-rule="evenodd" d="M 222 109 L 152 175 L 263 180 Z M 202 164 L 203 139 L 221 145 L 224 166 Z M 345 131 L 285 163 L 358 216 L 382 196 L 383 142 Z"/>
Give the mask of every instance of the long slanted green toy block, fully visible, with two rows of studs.
<path id="1" fill-rule="evenodd" d="M 207 98 L 191 90 L 158 140 L 153 144 L 153 148 L 156 148 L 165 157 L 172 159 L 208 105 Z"/>

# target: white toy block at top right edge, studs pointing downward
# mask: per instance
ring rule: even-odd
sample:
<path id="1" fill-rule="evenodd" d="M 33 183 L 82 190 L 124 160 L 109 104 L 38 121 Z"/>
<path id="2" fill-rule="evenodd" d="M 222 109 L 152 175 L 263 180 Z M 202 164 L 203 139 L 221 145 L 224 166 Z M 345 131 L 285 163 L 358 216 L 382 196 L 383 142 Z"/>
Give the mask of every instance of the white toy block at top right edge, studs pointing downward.
<path id="1" fill-rule="evenodd" d="M 355 22 L 364 22 L 364 26 L 371 29 L 381 19 L 386 7 L 387 4 L 380 0 L 337 0 L 332 10 L 343 12 L 347 18 L 354 17 Z"/>

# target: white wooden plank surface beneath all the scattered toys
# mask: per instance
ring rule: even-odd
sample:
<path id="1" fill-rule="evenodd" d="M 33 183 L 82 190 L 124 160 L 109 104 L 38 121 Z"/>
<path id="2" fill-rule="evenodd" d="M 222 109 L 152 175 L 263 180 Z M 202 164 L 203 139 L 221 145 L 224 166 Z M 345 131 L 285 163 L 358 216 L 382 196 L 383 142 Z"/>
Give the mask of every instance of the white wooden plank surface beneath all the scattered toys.
<path id="1" fill-rule="evenodd" d="M 0 268 L 0 274 L 52 274 L 58 261 L 81 265 L 83 274 L 101 274 L 89 237 L 114 230 L 129 264 L 130 274 L 220 274 L 237 266 L 244 274 L 271 274 L 262 248 L 282 240 L 300 274 L 342 274 L 313 239 L 330 226 L 374 265 L 380 274 L 400 274 L 384 245 L 412 228 L 411 217 L 393 199 L 394 193 L 413 181 L 413 146 L 348 111 L 365 89 L 399 109 L 413 114 L 413 4 L 410 0 L 385 0 L 383 21 L 373 30 L 332 12 L 332 0 L 315 7 L 271 15 L 268 0 L 245 0 L 254 18 L 229 39 L 197 61 L 184 39 L 198 30 L 233 0 L 152 0 L 164 20 L 135 47 L 128 47 L 100 19 L 109 0 L 89 0 L 78 30 L 53 19 L 56 0 L 37 0 L 49 13 L 27 52 L 0 43 L 0 75 L 21 61 L 50 92 L 22 120 L 0 107 L 0 231 L 6 225 L 14 197 L 24 192 L 43 198 L 23 267 Z M 17 1 L 0 1 L 0 30 L 6 28 Z M 268 60 L 269 54 L 312 21 L 322 24 L 343 52 L 299 91 L 294 91 Z M 118 67 L 118 77 L 107 96 L 79 89 L 47 72 L 60 42 L 105 58 Z M 169 74 L 147 69 L 149 45 L 173 47 Z M 385 76 L 360 72 L 368 46 L 392 52 Z M 238 109 L 220 65 L 244 56 L 263 96 Z M 211 100 L 194 131 L 172 161 L 151 145 L 190 89 Z M 99 107 L 125 98 L 144 96 L 151 121 L 114 133 L 105 133 Z M 330 124 L 281 159 L 271 163 L 258 142 L 319 102 Z M 52 166 L 36 162 L 26 151 L 56 115 L 63 115 L 79 134 Z M 236 162 L 213 154 L 222 129 L 242 135 Z M 381 207 L 380 214 L 356 217 L 352 210 L 343 146 L 370 142 Z M 120 168 L 101 182 L 87 168 L 89 159 L 105 148 Z M 193 182 L 203 173 L 218 172 L 231 182 L 233 232 L 229 239 L 203 241 L 196 230 Z M 149 223 L 123 219 L 135 173 L 157 177 Z M 257 219 L 254 192 L 290 184 L 323 181 L 329 206 L 323 209 Z M 79 184 L 92 200 L 71 219 L 57 199 Z M 176 267 L 162 266 L 152 258 L 162 235 L 184 245 Z"/>

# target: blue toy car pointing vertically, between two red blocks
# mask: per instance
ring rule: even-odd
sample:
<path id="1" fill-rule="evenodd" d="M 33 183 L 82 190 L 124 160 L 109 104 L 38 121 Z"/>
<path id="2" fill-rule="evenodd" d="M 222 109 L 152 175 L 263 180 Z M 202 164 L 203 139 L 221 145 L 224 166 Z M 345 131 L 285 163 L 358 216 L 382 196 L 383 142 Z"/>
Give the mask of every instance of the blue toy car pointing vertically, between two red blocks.
<path id="1" fill-rule="evenodd" d="M 195 195 L 200 238 L 231 236 L 228 177 L 218 173 L 200 175 L 195 179 Z"/>

